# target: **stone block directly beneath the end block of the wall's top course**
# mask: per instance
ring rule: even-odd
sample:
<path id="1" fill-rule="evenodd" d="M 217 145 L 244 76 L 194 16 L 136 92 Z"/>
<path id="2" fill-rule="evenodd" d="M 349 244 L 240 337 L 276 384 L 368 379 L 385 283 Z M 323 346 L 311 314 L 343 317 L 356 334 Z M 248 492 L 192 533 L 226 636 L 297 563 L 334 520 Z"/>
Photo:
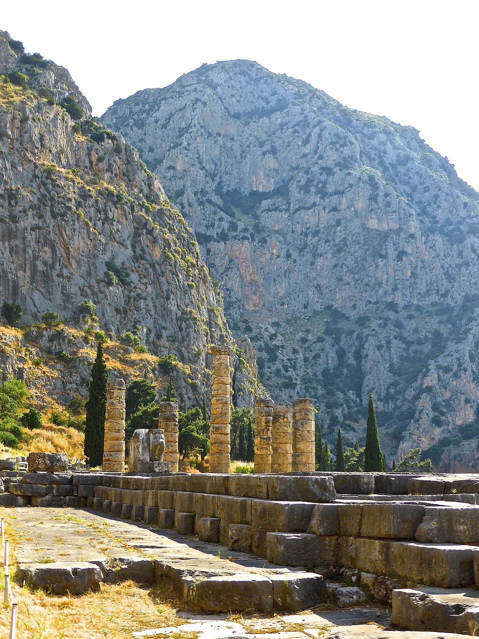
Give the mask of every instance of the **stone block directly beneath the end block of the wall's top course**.
<path id="1" fill-rule="evenodd" d="M 307 502 L 272 502 L 254 499 L 251 502 L 251 523 L 257 528 L 277 532 L 305 532 L 314 504 Z"/>

